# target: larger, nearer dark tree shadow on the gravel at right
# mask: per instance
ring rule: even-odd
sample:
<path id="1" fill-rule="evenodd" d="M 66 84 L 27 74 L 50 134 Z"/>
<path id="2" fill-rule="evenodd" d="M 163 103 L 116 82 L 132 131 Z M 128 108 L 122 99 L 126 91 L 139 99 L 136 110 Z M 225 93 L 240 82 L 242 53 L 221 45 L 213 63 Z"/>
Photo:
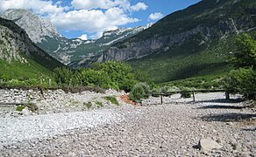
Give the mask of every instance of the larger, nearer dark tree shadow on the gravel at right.
<path id="1" fill-rule="evenodd" d="M 221 113 L 214 115 L 205 115 L 201 117 L 203 121 L 220 121 L 220 122 L 234 122 L 239 120 L 252 119 L 256 117 L 256 113 Z"/>

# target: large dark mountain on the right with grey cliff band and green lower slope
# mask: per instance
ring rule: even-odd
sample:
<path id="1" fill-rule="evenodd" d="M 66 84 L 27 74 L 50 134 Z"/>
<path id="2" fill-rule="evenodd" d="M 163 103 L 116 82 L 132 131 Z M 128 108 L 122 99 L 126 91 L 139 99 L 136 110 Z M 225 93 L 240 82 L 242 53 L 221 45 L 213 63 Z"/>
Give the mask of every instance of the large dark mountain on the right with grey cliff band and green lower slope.
<path id="1" fill-rule="evenodd" d="M 255 28 L 255 0 L 202 0 L 113 44 L 96 61 L 128 60 L 156 82 L 220 74 L 230 70 L 225 61 L 237 34 Z"/>

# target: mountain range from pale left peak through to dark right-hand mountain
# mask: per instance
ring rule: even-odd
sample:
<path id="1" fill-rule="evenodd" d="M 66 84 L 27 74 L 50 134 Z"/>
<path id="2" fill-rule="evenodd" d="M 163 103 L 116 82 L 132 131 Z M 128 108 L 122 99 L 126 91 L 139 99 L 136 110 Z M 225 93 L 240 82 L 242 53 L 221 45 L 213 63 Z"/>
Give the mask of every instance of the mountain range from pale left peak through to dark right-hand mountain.
<path id="1" fill-rule="evenodd" d="M 256 2 L 202 0 L 150 27 L 106 31 L 102 38 L 87 41 L 62 37 L 53 24 L 28 10 L 6 10 L 1 17 L 13 20 L 66 65 L 128 61 L 155 82 L 167 82 L 230 71 L 226 60 L 235 49 L 236 36 L 256 30 Z"/>

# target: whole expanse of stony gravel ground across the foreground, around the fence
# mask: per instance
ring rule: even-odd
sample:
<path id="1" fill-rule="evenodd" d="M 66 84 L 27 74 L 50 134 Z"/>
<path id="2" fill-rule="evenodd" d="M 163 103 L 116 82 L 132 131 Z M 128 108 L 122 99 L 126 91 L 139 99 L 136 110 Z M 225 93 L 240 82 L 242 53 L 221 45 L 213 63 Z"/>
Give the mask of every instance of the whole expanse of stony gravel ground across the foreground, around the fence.
<path id="1" fill-rule="evenodd" d="M 62 94 L 66 103 L 95 97 L 92 92 Z M 142 106 L 104 101 L 93 110 L 76 111 L 69 104 L 61 112 L 65 103 L 58 96 L 60 108 L 51 112 L 45 105 L 36 115 L 0 114 L 0 156 L 255 156 L 255 109 L 242 108 L 233 98 L 198 93 L 193 103 L 177 94 L 163 98 L 162 105 L 159 98 L 146 99 Z M 200 150 L 203 138 L 216 142 L 217 149 Z"/>

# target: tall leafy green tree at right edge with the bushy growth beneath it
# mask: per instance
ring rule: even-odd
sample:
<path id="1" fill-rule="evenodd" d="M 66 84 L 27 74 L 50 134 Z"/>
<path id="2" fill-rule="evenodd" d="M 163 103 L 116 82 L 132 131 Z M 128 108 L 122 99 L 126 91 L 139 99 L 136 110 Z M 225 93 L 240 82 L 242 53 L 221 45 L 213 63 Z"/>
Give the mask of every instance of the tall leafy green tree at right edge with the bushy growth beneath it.
<path id="1" fill-rule="evenodd" d="M 237 38 L 237 51 L 232 63 L 238 68 L 224 78 L 224 89 L 244 94 L 245 99 L 256 99 L 256 36 L 242 34 Z"/>

